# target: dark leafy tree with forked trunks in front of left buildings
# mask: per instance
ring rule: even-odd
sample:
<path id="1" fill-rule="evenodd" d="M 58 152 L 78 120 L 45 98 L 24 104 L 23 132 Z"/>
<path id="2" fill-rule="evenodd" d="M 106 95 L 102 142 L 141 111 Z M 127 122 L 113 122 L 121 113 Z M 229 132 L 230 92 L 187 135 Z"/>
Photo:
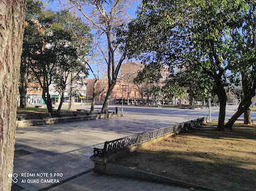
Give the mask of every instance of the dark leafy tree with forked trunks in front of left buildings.
<path id="1" fill-rule="evenodd" d="M 38 21 L 41 24 L 43 46 L 36 54 L 36 58 L 29 63 L 29 68 L 43 90 L 42 98 L 48 111 L 52 113 L 50 85 L 58 86 L 61 92 L 58 107 L 60 111 L 70 74 L 77 73 L 70 80 L 73 81 L 80 73 L 87 73 L 82 63 L 85 62 L 90 34 L 82 20 L 75 18 L 68 11 L 44 11 Z"/>

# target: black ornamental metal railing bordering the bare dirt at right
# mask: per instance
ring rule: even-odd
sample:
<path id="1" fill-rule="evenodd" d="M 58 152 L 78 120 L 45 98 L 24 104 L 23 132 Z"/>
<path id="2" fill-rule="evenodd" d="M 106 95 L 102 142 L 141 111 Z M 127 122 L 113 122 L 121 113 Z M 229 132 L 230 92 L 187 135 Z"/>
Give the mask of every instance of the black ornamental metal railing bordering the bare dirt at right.
<path id="1" fill-rule="evenodd" d="M 173 133 L 176 131 L 183 131 L 189 128 L 196 128 L 202 125 L 206 121 L 207 117 L 198 118 L 196 120 L 186 121 L 184 123 L 179 123 L 176 125 L 166 126 L 164 128 L 158 128 L 157 130 L 152 130 L 150 132 L 138 133 L 137 135 L 131 135 L 124 138 L 115 139 L 104 143 L 104 148 L 93 148 L 93 155 L 97 157 L 104 157 L 110 153 L 114 153 L 117 150 L 127 148 L 132 145 L 137 145 L 147 140 L 153 138 L 161 137 L 168 133 Z"/>

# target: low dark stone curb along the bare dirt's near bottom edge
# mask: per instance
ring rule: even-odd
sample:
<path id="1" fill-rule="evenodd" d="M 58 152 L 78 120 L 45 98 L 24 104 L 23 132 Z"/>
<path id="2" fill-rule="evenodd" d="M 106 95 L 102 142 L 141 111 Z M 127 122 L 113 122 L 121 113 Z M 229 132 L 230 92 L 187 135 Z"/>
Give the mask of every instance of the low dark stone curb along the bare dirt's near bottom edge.
<path id="1" fill-rule="evenodd" d="M 135 170 L 127 167 L 122 167 L 120 165 L 115 165 L 114 163 L 107 163 L 106 165 L 106 174 L 107 175 L 117 175 L 128 178 L 137 178 L 141 180 L 148 180 L 153 182 L 167 183 L 169 185 L 174 185 L 178 187 L 185 188 L 197 188 L 200 190 L 210 190 L 210 191 L 218 191 L 212 188 L 202 187 L 200 185 L 195 185 L 193 183 L 183 182 L 180 180 L 175 180 L 173 178 L 163 177 L 160 175 L 156 175 L 153 173 L 143 172 L 141 170 Z"/>

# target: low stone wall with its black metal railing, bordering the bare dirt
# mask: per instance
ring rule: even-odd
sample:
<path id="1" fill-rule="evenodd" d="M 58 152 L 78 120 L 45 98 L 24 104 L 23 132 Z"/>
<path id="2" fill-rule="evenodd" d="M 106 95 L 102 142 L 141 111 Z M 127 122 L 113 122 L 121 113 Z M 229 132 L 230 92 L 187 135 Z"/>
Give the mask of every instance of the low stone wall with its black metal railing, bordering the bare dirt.
<path id="1" fill-rule="evenodd" d="M 119 138 L 110 142 L 105 142 L 104 148 L 94 148 L 93 155 L 90 157 L 94 162 L 94 171 L 106 173 L 106 165 L 114 158 L 122 157 L 127 152 L 133 152 L 137 148 L 148 147 L 152 143 L 159 142 L 164 138 L 189 128 L 196 128 L 205 123 L 207 117 L 196 120 L 186 121 L 176 125 L 166 126 L 145 133 L 138 133 L 129 137 Z"/>

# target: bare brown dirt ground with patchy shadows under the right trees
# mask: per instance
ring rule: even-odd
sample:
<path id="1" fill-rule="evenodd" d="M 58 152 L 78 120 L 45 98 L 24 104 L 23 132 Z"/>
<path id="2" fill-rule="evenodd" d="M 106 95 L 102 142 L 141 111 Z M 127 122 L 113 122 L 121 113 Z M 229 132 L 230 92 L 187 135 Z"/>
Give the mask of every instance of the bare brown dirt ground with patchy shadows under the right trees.
<path id="1" fill-rule="evenodd" d="M 216 190 L 256 190 L 256 125 L 215 128 L 207 123 L 114 163 Z"/>

